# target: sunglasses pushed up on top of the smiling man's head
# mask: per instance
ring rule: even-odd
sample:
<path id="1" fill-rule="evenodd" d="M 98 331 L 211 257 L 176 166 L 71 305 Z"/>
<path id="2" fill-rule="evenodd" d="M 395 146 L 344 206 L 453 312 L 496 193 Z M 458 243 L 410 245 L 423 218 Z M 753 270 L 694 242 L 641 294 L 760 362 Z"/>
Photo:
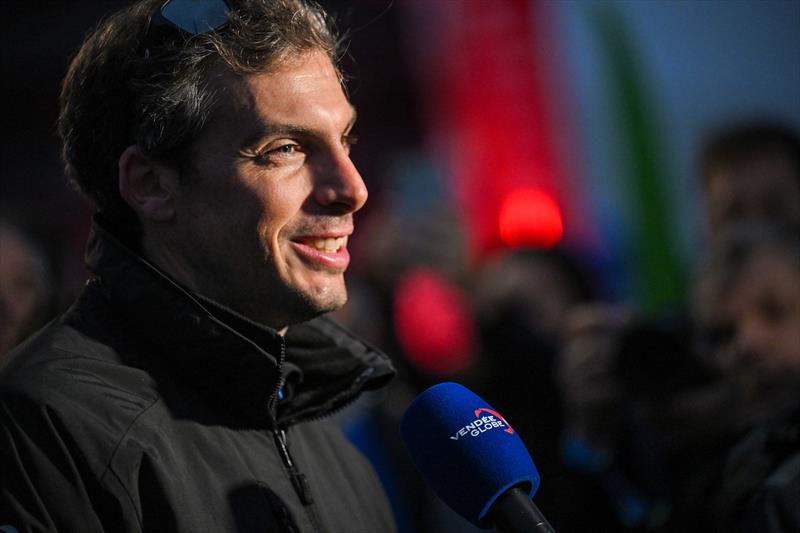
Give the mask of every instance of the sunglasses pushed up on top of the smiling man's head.
<path id="1" fill-rule="evenodd" d="M 219 30 L 228 23 L 225 0 L 167 0 L 150 17 L 144 39 L 145 57 L 150 48 L 180 33 L 194 37 Z"/>

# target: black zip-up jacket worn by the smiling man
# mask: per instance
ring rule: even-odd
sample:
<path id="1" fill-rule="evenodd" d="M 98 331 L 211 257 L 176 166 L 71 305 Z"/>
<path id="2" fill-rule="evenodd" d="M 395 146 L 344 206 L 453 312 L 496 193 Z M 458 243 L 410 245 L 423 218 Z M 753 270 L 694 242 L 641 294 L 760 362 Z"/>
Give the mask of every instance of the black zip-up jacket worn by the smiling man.
<path id="1" fill-rule="evenodd" d="M 327 318 L 285 340 L 191 295 L 98 226 L 96 277 L 0 372 L 0 526 L 394 531 L 328 415 L 393 374 Z"/>

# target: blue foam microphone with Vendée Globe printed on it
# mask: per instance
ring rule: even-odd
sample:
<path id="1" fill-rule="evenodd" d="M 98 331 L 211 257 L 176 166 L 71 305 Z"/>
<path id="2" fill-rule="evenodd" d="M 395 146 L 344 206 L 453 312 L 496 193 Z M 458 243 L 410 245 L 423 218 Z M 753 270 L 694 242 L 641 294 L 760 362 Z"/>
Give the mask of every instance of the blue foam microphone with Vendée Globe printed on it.
<path id="1" fill-rule="evenodd" d="M 466 387 L 440 383 L 420 394 L 400 434 L 434 492 L 476 526 L 554 533 L 531 501 L 540 478 L 522 439 Z"/>

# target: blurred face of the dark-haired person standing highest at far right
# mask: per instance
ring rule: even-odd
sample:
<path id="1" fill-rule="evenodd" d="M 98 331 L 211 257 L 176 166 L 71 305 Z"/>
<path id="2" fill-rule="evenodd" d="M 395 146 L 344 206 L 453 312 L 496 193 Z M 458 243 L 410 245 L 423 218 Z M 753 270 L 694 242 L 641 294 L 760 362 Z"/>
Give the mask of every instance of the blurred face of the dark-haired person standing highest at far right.
<path id="1" fill-rule="evenodd" d="M 708 176 L 706 208 L 712 238 L 748 219 L 800 224 L 800 177 L 790 159 L 764 153 L 719 166 Z"/>

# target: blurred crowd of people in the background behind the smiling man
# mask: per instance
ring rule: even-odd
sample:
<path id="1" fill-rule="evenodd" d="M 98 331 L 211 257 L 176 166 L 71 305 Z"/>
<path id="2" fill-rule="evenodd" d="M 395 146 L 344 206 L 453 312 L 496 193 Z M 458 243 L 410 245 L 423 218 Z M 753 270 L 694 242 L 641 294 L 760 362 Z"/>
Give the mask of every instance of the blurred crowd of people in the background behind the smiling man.
<path id="1" fill-rule="evenodd" d="M 800 530 L 800 140 L 734 124 L 698 149 L 707 224 L 680 309 L 604 301 L 574 251 L 475 261 L 454 212 L 361 221 L 337 318 L 400 373 L 341 416 L 401 531 L 467 532 L 425 488 L 398 437 L 440 381 L 475 390 L 542 475 L 538 506 L 565 532 Z M 0 357 L 61 306 L 58 262 L 0 213 Z"/>

